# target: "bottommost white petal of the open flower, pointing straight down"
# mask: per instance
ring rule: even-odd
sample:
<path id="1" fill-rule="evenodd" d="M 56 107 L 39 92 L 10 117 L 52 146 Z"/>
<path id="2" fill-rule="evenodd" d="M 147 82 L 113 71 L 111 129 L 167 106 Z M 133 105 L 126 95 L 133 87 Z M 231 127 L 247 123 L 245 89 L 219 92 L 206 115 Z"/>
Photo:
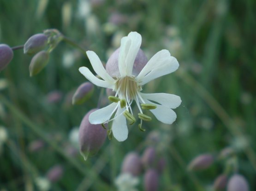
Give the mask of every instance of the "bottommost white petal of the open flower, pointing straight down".
<path id="1" fill-rule="evenodd" d="M 126 124 L 126 118 L 123 114 L 120 115 L 125 110 L 125 108 L 119 107 L 117 109 L 117 118 L 114 119 L 113 124 L 112 124 L 112 132 L 113 136 L 116 138 L 118 141 L 124 141 L 128 137 L 128 128 Z"/>

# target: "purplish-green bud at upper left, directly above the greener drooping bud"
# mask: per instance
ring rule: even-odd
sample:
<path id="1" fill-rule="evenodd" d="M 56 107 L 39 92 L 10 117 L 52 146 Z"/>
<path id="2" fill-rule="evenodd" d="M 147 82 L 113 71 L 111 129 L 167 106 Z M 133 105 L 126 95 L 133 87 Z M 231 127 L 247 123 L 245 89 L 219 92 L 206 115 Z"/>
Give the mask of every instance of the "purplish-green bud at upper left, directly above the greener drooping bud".
<path id="1" fill-rule="evenodd" d="M 36 54 L 42 51 L 47 45 L 45 34 L 35 34 L 31 36 L 24 45 L 24 54 Z"/>

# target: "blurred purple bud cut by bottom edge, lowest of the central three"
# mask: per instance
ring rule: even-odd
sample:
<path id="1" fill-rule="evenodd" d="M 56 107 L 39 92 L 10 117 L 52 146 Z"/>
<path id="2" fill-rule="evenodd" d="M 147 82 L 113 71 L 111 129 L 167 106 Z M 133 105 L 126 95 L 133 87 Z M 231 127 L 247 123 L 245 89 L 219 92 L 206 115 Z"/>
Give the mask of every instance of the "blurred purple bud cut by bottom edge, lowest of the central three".
<path id="1" fill-rule="evenodd" d="M 144 175 L 144 190 L 158 191 L 159 175 L 155 169 L 149 169 Z"/>

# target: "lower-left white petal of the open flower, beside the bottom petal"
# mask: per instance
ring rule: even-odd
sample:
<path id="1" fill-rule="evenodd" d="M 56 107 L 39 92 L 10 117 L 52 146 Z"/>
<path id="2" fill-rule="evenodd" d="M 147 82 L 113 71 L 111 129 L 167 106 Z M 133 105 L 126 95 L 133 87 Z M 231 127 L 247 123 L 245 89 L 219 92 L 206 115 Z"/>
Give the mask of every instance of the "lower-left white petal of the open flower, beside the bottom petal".
<path id="1" fill-rule="evenodd" d="M 92 112 L 89 115 L 89 122 L 91 124 L 105 123 L 111 117 L 111 113 L 113 112 L 116 106 L 117 103 L 111 103 L 107 107 L 103 107 L 101 109 L 96 110 L 95 112 Z"/>

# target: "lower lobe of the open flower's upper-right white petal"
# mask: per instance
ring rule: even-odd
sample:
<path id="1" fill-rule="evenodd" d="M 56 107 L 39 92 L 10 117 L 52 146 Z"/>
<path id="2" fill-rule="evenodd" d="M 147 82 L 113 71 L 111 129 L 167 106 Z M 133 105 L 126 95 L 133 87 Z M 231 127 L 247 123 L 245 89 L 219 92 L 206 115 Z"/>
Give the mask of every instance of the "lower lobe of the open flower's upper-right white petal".
<path id="1" fill-rule="evenodd" d="M 147 66 L 147 65 L 146 65 Z M 172 73 L 177 70 L 179 63 L 176 58 L 170 56 L 169 59 L 163 65 L 159 67 L 154 67 L 146 76 L 144 76 L 141 81 L 138 80 L 139 85 L 147 84 L 149 81 L 164 76 L 166 74 Z"/>

